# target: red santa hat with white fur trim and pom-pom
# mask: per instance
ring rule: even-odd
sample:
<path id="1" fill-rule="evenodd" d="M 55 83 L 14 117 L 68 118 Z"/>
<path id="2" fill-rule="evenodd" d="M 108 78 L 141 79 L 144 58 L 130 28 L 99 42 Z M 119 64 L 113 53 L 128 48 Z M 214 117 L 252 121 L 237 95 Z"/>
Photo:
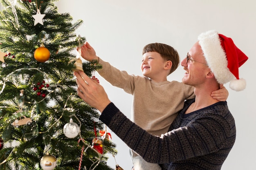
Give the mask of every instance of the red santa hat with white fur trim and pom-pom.
<path id="1" fill-rule="evenodd" d="M 231 89 L 244 90 L 246 82 L 243 78 L 239 79 L 238 67 L 242 66 L 248 57 L 236 47 L 233 40 L 215 30 L 201 33 L 198 40 L 205 60 L 218 83 L 230 82 Z"/>

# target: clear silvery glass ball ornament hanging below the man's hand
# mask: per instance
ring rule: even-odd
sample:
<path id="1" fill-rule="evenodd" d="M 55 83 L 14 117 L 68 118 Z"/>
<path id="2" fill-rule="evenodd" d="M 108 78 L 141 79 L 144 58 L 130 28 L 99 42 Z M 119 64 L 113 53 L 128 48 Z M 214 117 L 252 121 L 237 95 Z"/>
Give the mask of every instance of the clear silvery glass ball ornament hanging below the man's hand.
<path id="1" fill-rule="evenodd" d="M 68 138 L 76 137 L 80 132 L 79 126 L 73 122 L 73 119 L 70 119 L 70 122 L 65 124 L 63 127 L 63 133 Z"/>

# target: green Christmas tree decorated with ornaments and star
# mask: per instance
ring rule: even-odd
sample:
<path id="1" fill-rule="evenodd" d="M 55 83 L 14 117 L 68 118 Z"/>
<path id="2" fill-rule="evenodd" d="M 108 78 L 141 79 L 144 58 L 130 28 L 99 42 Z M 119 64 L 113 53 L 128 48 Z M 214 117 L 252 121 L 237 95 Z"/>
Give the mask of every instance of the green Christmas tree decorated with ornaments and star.
<path id="1" fill-rule="evenodd" d="M 101 66 L 78 62 L 82 21 L 72 23 L 54 2 L 1 0 L 0 169 L 110 170 L 106 153 L 116 155 L 115 144 L 77 96 L 74 77 L 75 69 L 92 76 Z"/>

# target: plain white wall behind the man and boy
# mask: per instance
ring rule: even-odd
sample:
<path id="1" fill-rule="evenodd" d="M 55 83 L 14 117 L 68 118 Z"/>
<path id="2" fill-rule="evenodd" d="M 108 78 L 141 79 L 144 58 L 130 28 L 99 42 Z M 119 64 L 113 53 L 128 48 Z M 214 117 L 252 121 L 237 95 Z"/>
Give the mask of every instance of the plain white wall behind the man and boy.
<path id="1" fill-rule="evenodd" d="M 85 36 L 97 55 L 130 74 L 141 75 L 142 48 L 153 42 L 169 44 L 177 49 L 181 59 L 186 56 L 197 36 L 216 29 L 228 37 L 249 60 L 239 69 L 247 80 L 247 88 L 229 90 L 229 109 L 236 120 L 237 138 L 222 170 L 255 170 L 256 112 L 254 87 L 256 74 L 256 1 L 255 0 L 60 0 L 59 12 L 67 12 L 74 21 L 84 24 L 77 34 Z M 168 80 L 181 81 L 182 66 Z M 116 106 L 130 118 L 132 96 L 112 87 L 99 77 Z M 132 167 L 128 147 L 114 133 L 112 141 L 119 151 L 117 163 L 124 169 Z M 115 167 L 110 155 L 108 164 Z"/>

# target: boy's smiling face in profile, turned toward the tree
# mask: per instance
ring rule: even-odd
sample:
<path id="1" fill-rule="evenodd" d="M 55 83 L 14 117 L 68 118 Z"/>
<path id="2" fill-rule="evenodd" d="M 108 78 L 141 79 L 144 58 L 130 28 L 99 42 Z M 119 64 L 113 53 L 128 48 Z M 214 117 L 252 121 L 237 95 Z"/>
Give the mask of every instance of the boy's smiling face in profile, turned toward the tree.
<path id="1" fill-rule="evenodd" d="M 144 53 L 141 62 L 141 71 L 144 76 L 149 77 L 150 79 L 157 81 L 164 75 L 164 66 L 166 61 L 161 57 L 157 52 L 148 52 Z"/>

